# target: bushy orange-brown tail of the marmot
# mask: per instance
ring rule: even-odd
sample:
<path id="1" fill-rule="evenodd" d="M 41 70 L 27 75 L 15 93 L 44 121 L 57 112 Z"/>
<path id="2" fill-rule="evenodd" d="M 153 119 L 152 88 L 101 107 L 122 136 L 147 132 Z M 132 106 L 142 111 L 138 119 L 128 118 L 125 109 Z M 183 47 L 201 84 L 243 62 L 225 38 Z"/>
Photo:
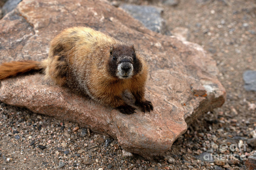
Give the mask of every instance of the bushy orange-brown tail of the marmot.
<path id="1" fill-rule="evenodd" d="M 11 61 L 0 65 L 0 80 L 23 74 L 32 70 L 41 70 L 46 68 L 47 60 L 39 61 Z"/>

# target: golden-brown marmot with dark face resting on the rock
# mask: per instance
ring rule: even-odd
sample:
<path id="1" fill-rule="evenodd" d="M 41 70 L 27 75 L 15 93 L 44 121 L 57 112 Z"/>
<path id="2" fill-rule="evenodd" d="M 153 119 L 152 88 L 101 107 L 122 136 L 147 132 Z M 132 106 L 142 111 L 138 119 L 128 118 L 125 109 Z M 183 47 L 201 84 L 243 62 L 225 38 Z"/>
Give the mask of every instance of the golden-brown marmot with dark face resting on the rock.
<path id="1" fill-rule="evenodd" d="M 50 43 L 46 60 L 13 61 L 0 66 L 0 79 L 30 70 L 43 70 L 60 86 L 89 96 L 121 113 L 132 114 L 135 108 L 124 102 L 121 94 L 128 89 L 142 111 L 153 110 L 144 98 L 148 60 L 133 45 L 116 40 L 89 27 L 71 27 Z"/>

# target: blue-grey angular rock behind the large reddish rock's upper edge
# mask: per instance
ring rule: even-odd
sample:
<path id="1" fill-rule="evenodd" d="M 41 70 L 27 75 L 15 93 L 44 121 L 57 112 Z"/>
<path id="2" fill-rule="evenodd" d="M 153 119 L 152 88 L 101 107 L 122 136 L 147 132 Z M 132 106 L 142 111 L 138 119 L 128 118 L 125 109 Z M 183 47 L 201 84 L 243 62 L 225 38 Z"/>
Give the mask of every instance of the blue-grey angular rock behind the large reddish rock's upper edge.
<path id="1" fill-rule="evenodd" d="M 129 13 L 133 18 L 141 21 L 148 29 L 157 33 L 165 32 L 165 20 L 161 17 L 162 8 L 132 4 L 122 4 L 120 8 Z"/>

